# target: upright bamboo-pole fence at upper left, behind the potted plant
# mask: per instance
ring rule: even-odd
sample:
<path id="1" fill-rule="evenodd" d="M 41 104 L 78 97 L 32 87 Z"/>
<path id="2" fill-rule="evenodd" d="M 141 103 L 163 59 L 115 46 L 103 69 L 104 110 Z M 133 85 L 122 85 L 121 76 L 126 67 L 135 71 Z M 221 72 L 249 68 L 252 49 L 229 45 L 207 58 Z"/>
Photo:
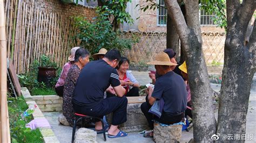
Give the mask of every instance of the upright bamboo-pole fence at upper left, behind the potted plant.
<path id="1" fill-rule="evenodd" d="M 72 19 L 40 10 L 35 0 L 6 0 L 5 16 L 8 58 L 14 62 L 17 74 L 28 71 L 31 63 L 43 54 L 62 67 L 70 49 L 77 45 L 72 39 Z"/>

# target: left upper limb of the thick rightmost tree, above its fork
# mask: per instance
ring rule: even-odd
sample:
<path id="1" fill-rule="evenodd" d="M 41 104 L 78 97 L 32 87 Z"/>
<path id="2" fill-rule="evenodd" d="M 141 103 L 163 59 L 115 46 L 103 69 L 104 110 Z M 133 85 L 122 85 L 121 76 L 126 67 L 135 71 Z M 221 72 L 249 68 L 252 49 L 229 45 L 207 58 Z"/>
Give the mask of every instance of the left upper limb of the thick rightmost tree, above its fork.
<path id="1" fill-rule="evenodd" d="M 226 9 L 227 9 L 227 24 L 232 24 L 232 18 L 234 17 L 234 13 L 238 10 L 240 6 L 239 0 L 227 0 L 226 1 Z M 229 26 L 227 26 L 229 27 Z"/>

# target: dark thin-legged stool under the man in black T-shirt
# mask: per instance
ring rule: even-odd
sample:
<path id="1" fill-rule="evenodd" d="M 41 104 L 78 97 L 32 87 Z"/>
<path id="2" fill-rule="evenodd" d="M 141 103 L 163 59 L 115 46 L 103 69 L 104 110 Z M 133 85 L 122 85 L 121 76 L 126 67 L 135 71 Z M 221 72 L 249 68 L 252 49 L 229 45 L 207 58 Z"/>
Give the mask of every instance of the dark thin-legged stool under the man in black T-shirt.
<path id="1" fill-rule="evenodd" d="M 76 133 L 76 128 L 77 128 L 77 122 L 80 120 L 80 119 L 85 119 L 85 118 L 95 118 L 95 119 L 98 119 L 102 122 L 102 128 L 103 128 L 103 135 L 104 135 L 104 141 L 106 141 L 106 133 L 105 133 L 105 126 L 104 126 L 104 122 L 102 120 L 102 118 L 99 118 L 99 117 L 92 117 L 92 116 L 86 116 L 86 115 L 82 115 L 82 114 L 79 114 L 79 113 L 75 113 L 75 117 L 76 119 L 74 120 L 74 126 L 73 126 L 73 131 L 72 131 L 72 142 L 74 141 L 74 138 L 75 138 L 75 133 Z M 82 125 L 84 126 L 84 121 L 82 123 Z"/>

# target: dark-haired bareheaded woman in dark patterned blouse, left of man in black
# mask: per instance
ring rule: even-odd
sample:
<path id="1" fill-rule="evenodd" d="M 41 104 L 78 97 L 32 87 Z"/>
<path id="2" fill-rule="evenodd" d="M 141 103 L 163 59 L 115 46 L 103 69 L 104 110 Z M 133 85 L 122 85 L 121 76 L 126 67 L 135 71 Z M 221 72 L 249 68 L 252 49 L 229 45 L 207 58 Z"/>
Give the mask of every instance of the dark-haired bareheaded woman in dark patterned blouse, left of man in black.
<path id="1" fill-rule="evenodd" d="M 64 84 L 64 94 L 63 94 L 63 115 L 68 120 L 69 124 L 73 126 L 73 122 L 75 120 L 73 105 L 72 105 L 72 97 L 73 91 L 75 89 L 77 78 L 80 74 L 80 71 L 83 67 L 90 61 L 90 53 L 85 48 L 77 49 L 75 53 L 75 61 L 73 66 L 69 69 L 69 73 L 66 76 L 65 84 Z M 87 120 L 86 123 L 90 121 Z"/>

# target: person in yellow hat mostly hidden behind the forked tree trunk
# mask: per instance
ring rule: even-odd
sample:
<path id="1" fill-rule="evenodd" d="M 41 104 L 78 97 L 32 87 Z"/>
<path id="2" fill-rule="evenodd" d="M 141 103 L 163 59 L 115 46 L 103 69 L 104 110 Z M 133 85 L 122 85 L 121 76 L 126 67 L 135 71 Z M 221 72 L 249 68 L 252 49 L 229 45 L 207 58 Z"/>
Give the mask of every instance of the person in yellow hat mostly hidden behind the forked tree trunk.
<path id="1" fill-rule="evenodd" d="M 190 93 L 190 85 L 188 85 L 188 76 L 187 76 L 187 66 L 186 61 L 182 63 L 182 65 L 179 66 L 179 69 L 181 70 L 181 75 L 185 79 L 186 89 L 187 89 L 187 109 L 185 111 L 185 117 L 189 116 L 192 117 L 192 102 L 191 102 L 191 93 Z"/>

